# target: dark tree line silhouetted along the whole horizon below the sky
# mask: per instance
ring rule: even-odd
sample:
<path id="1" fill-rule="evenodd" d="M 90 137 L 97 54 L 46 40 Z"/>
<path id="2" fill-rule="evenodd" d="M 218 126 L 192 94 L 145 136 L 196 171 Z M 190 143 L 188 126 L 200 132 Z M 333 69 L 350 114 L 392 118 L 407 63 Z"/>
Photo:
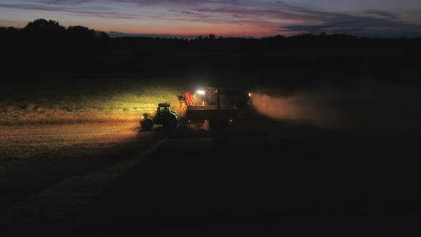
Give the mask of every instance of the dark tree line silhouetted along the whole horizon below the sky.
<path id="1" fill-rule="evenodd" d="M 3 43 L 14 46 L 39 46 L 48 48 L 61 46 L 70 51 L 84 51 L 86 48 L 104 50 L 106 46 L 115 48 L 142 46 L 153 50 L 205 50 L 205 51 L 272 51 L 285 47 L 311 48 L 321 46 L 393 46 L 393 45 L 417 45 L 421 37 L 416 39 L 382 39 L 357 37 L 349 34 L 298 34 L 294 36 L 268 36 L 262 38 L 253 37 L 223 37 L 209 34 L 188 38 L 160 38 L 160 37 L 118 37 L 111 38 L 103 31 L 88 29 L 85 26 L 69 26 L 65 28 L 58 21 L 36 19 L 31 21 L 23 29 L 14 27 L 0 28 L 0 40 Z M 3 44 L 4 45 L 4 44 Z M 102 47 L 98 47 L 102 46 Z M 152 46 L 152 48 L 150 47 Z M 157 47 L 153 47 L 157 46 Z M 78 50 L 81 49 L 81 50 Z"/>

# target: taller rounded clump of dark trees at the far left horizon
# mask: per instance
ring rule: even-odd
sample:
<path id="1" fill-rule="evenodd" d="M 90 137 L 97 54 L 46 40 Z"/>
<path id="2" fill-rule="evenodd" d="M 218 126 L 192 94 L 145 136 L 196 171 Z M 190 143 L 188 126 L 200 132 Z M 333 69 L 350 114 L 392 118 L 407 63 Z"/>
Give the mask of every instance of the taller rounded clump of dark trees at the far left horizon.
<path id="1" fill-rule="evenodd" d="M 103 31 L 36 19 L 23 29 L 0 28 L 1 64 L 12 69 L 80 68 L 107 50 L 108 39 Z"/>

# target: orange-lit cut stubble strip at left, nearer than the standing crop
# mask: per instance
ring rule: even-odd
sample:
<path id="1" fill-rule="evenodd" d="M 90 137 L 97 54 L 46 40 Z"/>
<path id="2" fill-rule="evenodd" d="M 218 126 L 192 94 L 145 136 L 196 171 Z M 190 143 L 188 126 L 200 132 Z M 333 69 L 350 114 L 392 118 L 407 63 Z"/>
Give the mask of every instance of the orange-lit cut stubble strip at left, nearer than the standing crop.
<path id="1" fill-rule="evenodd" d="M 0 164 L 28 159 L 96 156 L 141 136 L 138 123 L 0 126 Z"/>

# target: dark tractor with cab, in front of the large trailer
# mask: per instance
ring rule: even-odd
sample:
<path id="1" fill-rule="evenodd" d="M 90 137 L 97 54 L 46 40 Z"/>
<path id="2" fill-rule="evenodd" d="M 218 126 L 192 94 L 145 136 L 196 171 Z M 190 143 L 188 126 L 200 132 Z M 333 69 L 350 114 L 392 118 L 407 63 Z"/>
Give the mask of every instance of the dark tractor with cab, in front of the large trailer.
<path id="1" fill-rule="evenodd" d="M 153 118 L 148 113 L 143 114 L 140 121 L 143 131 L 151 131 L 154 124 L 162 125 L 167 131 L 174 130 L 178 125 L 177 112 L 170 109 L 169 103 L 157 104 L 153 114 Z"/>

